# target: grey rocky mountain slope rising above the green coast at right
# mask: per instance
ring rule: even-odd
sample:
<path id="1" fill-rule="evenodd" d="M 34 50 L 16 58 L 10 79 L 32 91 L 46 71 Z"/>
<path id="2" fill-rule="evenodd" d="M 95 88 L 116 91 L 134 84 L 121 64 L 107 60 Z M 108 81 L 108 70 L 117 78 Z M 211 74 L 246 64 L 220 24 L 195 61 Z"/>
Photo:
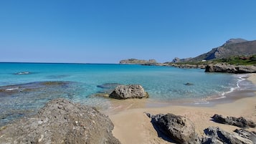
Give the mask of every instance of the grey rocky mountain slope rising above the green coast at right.
<path id="1" fill-rule="evenodd" d="M 211 51 L 201 54 L 188 60 L 181 59 L 181 62 L 198 62 L 202 60 L 222 59 L 237 55 L 256 54 L 256 40 L 247 41 L 245 39 L 229 39 L 222 46 L 212 49 Z M 173 61 L 174 62 L 174 61 Z"/>

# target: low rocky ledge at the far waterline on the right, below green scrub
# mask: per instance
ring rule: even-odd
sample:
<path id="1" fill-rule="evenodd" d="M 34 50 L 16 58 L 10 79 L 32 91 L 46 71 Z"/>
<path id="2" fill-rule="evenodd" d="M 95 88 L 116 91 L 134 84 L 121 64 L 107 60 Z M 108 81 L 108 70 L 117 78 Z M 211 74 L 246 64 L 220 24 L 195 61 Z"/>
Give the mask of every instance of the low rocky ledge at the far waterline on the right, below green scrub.
<path id="1" fill-rule="evenodd" d="M 226 72 L 235 74 L 256 73 L 256 67 L 252 65 L 209 64 L 205 72 Z"/>

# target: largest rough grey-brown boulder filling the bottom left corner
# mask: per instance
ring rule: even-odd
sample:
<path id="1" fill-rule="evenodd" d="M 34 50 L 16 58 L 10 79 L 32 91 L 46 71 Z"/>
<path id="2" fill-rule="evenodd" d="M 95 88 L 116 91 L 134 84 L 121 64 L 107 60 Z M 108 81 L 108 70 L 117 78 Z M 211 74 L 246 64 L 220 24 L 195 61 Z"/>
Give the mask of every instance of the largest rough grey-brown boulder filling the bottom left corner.
<path id="1" fill-rule="evenodd" d="M 6 125 L 0 143 L 120 143 L 112 135 L 113 127 L 95 108 L 59 98 L 37 115 Z"/>

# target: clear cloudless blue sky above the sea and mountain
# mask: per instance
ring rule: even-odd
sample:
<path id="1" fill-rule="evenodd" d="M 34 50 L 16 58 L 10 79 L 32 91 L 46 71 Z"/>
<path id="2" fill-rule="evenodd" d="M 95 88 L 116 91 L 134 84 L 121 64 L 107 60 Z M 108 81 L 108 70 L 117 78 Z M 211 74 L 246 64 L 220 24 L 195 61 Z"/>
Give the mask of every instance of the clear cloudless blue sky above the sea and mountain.
<path id="1" fill-rule="evenodd" d="M 0 62 L 196 57 L 256 39 L 255 0 L 1 0 Z"/>

